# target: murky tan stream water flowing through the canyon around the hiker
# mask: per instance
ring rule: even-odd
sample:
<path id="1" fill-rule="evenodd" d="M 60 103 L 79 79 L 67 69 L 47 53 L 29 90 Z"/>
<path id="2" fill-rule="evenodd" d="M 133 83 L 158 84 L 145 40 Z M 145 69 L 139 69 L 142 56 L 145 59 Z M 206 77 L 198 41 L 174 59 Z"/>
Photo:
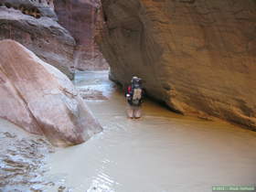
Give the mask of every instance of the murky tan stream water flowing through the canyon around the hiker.
<path id="1" fill-rule="evenodd" d="M 80 72 L 76 86 L 104 131 L 50 155 L 49 176 L 69 191 L 204 192 L 214 185 L 256 186 L 256 133 L 224 122 L 169 112 L 144 102 L 144 117 L 125 115 L 122 91 L 107 71 Z M 99 96 L 100 95 L 100 96 Z"/>

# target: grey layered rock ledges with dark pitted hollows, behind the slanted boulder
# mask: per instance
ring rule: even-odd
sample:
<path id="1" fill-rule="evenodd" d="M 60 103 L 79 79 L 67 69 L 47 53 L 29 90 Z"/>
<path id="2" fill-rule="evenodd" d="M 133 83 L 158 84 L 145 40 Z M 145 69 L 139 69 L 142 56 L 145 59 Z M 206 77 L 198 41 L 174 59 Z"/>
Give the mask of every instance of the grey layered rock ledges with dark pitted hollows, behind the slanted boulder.
<path id="1" fill-rule="evenodd" d="M 0 0 L 0 39 L 15 39 L 72 79 L 75 40 L 57 21 L 52 0 Z"/>

